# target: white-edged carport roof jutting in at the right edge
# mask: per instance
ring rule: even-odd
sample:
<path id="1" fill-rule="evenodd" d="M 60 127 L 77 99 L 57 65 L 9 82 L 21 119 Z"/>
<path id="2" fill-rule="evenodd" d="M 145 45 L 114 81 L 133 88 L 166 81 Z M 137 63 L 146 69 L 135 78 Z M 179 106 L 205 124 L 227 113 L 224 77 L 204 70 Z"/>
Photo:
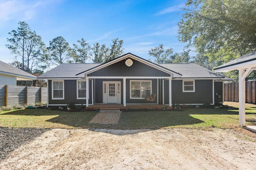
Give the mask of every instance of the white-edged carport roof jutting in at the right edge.
<path id="1" fill-rule="evenodd" d="M 255 67 L 255 63 L 256 63 L 256 51 L 249 53 L 247 55 L 244 55 L 240 58 L 234 59 L 228 63 L 222 64 L 214 68 L 214 70 L 218 72 L 227 72 L 227 71 L 236 70 L 238 68 L 247 69 L 250 66 Z"/>

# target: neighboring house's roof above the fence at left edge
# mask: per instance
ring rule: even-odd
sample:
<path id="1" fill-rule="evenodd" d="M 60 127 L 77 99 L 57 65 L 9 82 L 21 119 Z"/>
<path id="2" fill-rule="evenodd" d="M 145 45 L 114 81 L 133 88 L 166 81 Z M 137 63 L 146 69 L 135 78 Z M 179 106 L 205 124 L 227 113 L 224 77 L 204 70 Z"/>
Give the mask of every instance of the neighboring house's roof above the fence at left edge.
<path id="1" fill-rule="evenodd" d="M 0 61 L 0 74 L 15 76 L 17 80 L 35 80 L 36 76 Z"/>

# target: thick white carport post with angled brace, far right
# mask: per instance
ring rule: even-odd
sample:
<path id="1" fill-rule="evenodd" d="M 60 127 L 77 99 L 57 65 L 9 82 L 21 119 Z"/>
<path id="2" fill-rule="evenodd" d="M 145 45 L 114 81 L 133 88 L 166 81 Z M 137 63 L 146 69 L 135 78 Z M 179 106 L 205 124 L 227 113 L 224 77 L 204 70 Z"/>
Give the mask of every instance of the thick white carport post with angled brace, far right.
<path id="1" fill-rule="evenodd" d="M 239 125 L 245 126 L 245 78 L 252 72 L 252 67 L 238 70 L 238 91 L 239 91 Z"/>

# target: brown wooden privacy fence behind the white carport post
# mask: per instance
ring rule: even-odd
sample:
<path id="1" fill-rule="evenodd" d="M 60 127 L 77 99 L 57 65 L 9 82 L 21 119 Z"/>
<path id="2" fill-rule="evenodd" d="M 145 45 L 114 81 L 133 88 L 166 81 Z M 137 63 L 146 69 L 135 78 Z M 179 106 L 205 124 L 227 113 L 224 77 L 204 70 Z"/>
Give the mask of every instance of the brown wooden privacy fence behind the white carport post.
<path id="1" fill-rule="evenodd" d="M 245 82 L 245 102 L 256 103 L 255 97 L 256 81 Z M 238 102 L 238 82 L 224 83 L 224 101 Z"/>

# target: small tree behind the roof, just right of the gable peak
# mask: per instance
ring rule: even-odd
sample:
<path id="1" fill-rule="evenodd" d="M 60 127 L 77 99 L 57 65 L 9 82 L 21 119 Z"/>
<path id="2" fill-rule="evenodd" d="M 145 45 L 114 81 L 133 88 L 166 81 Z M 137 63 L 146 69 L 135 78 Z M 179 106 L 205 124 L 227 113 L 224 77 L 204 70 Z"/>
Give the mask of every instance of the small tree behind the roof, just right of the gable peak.
<path id="1" fill-rule="evenodd" d="M 160 44 L 159 47 L 151 48 L 148 54 L 155 58 L 155 63 L 170 63 L 173 49 L 164 49 L 164 45 Z"/>

